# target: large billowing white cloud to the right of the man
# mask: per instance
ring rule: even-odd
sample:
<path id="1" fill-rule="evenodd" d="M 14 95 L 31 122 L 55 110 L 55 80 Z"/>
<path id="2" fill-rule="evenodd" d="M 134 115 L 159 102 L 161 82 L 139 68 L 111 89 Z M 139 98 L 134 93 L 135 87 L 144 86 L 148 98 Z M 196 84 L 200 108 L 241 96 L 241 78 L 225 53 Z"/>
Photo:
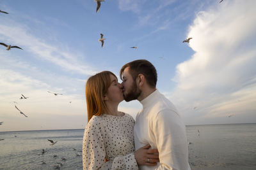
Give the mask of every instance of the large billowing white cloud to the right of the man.
<path id="1" fill-rule="evenodd" d="M 214 5 L 200 11 L 189 27 L 189 46 L 195 53 L 177 66 L 172 79 L 177 88 L 170 96 L 186 122 L 213 123 L 214 118 L 218 123 L 230 113 L 256 121 L 255 5 L 253 0 Z"/>

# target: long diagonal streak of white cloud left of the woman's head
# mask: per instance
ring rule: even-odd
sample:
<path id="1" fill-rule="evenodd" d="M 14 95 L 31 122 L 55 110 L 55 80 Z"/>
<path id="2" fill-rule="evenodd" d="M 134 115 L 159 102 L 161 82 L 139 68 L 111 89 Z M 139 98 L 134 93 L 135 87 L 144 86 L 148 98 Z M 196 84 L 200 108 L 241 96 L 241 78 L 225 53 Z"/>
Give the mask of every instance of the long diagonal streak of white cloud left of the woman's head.
<path id="1" fill-rule="evenodd" d="M 0 37 L 5 43 L 18 45 L 24 49 L 23 52 L 29 53 L 36 59 L 50 62 L 65 71 L 74 71 L 75 73 L 87 75 L 97 72 L 89 65 L 80 64 L 80 61 L 77 60 L 78 54 L 68 52 L 63 48 L 63 45 L 54 45 L 53 43 L 45 42 L 46 39 L 43 40 L 30 34 L 27 25 L 4 19 L 1 21 L 3 22 L 0 24 Z M 15 26 L 13 26 L 14 24 Z M 12 32 L 12 34 L 8 34 L 8 32 Z"/>

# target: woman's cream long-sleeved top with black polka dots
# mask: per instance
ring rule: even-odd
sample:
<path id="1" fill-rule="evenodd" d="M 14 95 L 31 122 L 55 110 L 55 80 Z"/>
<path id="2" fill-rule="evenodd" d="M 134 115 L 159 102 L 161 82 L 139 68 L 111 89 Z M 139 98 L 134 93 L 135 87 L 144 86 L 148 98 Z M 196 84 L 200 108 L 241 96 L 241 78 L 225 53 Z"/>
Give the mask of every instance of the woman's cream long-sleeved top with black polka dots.
<path id="1" fill-rule="evenodd" d="M 133 127 L 128 114 L 93 116 L 84 129 L 83 169 L 138 169 Z"/>

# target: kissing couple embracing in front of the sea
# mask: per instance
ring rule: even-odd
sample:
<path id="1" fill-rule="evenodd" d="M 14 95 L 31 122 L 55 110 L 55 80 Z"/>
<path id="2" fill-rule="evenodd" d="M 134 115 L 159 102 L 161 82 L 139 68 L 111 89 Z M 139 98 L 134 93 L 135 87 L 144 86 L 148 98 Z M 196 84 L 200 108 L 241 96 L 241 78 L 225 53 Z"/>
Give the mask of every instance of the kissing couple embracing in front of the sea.
<path id="1" fill-rule="evenodd" d="M 156 68 L 134 60 L 122 67 L 120 78 L 121 84 L 115 74 L 102 71 L 86 83 L 83 169 L 190 169 L 185 125 L 156 89 Z M 124 99 L 143 105 L 135 123 L 118 111 Z"/>

